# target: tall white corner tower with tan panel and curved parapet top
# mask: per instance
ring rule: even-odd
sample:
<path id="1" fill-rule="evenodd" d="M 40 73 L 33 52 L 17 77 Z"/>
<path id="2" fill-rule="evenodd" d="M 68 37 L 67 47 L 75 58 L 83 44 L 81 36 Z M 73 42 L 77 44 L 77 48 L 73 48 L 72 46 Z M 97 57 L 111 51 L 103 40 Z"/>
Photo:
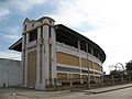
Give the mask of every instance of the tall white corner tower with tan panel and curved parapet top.
<path id="1" fill-rule="evenodd" d="M 23 84 L 25 87 L 45 90 L 56 77 L 54 20 L 43 16 L 25 19 L 22 33 Z M 54 72 L 53 72 L 54 70 Z"/>

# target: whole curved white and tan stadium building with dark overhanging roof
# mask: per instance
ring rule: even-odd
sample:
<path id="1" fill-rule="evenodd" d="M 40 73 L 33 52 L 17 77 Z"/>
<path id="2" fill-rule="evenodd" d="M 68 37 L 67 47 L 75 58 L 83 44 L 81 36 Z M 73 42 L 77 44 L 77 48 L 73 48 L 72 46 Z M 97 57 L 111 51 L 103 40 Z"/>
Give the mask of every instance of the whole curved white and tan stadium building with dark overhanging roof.
<path id="1" fill-rule="evenodd" d="M 22 52 L 24 87 L 46 90 L 52 85 L 101 82 L 102 48 L 48 16 L 25 19 L 22 37 L 9 47 Z"/>

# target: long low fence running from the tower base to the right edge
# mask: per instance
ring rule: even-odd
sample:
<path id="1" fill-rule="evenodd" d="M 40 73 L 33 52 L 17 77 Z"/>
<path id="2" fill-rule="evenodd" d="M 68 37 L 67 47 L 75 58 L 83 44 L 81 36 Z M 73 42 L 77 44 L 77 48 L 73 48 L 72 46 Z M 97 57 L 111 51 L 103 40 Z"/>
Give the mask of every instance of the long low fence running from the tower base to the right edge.
<path id="1" fill-rule="evenodd" d="M 46 79 L 46 90 L 82 90 L 131 82 L 129 77 L 101 77 L 99 79 L 70 78 Z"/>

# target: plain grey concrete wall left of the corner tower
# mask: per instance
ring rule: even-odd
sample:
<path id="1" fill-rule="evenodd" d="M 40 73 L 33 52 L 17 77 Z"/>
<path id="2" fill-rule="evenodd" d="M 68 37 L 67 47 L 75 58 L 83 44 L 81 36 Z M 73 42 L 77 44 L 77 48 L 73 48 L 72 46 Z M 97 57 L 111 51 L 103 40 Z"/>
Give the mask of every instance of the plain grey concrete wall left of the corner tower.
<path id="1" fill-rule="evenodd" d="M 22 80 L 21 62 L 0 58 L 0 87 L 19 86 Z"/>

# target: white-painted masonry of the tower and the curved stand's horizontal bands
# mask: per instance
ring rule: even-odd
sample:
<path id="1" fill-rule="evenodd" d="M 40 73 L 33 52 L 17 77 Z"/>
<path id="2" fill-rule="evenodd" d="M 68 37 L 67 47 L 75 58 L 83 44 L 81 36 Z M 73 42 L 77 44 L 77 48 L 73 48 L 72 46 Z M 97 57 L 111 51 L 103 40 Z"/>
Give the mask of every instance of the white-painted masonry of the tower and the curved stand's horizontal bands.
<path id="1" fill-rule="evenodd" d="M 51 29 L 50 29 L 51 28 Z M 37 31 L 37 37 L 34 41 L 30 41 L 30 33 L 32 31 Z M 51 34 L 50 34 L 51 33 Z M 56 53 L 66 53 L 69 55 L 74 55 L 79 57 L 79 67 L 75 67 L 80 69 L 87 70 L 88 68 L 81 67 L 81 58 L 91 61 L 92 63 L 97 63 L 98 65 L 102 65 L 101 59 L 94 56 L 94 51 L 91 50 L 91 54 L 85 51 L 80 50 L 80 41 L 78 40 L 78 48 L 75 48 L 73 46 L 66 45 L 64 43 L 56 42 L 56 33 L 55 33 L 55 25 L 54 20 L 51 18 L 42 18 L 40 20 L 29 20 L 26 19 L 23 23 L 23 36 L 22 36 L 22 67 L 23 67 L 23 74 L 24 74 L 24 86 L 29 88 L 35 88 L 45 90 L 45 86 L 50 85 L 48 79 L 56 78 L 57 73 L 61 73 L 57 70 L 57 66 L 62 67 L 69 67 L 74 68 L 74 66 L 65 65 L 65 64 L 58 64 L 56 63 Z M 51 36 L 50 36 L 51 35 Z M 67 40 L 68 41 L 68 40 Z M 88 50 L 88 45 L 87 45 Z M 28 84 L 28 67 L 29 67 L 29 53 L 36 52 L 36 79 L 35 85 L 29 85 Z M 96 75 L 95 73 L 98 73 L 99 76 L 102 76 L 101 70 L 95 70 L 92 75 Z M 62 72 L 66 73 L 66 72 Z M 87 74 L 86 74 L 87 75 Z M 52 82 L 53 84 L 53 82 Z"/>

